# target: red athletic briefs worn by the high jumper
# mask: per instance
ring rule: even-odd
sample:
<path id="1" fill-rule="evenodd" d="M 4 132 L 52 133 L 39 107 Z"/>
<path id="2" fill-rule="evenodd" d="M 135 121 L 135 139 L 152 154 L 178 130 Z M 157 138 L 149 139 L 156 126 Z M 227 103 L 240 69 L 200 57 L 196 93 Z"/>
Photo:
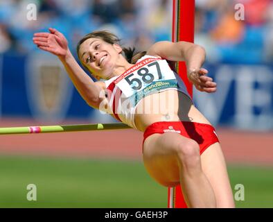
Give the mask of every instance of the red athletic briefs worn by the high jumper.
<path id="1" fill-rule="evenodd" d="M 219 142 L 213 126 L 191 121 L 162 121 L 152 123 L 144 132 L 143 144 L 147 137 L 155 133 L 179 133 L 184 137 L 194 139 L 200 146 L 200 155 L 206 148 Z"/>

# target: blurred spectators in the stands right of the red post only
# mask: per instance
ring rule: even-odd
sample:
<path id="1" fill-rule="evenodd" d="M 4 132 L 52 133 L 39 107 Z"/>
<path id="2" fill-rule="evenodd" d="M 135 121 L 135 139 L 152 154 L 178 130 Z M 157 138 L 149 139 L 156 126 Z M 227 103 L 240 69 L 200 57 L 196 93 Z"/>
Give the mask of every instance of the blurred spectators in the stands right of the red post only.
<path id="1" fill-rule="evenodd" d="M 272 0 L 195 0 L 195 4 L 195 42 L 205 46 L 208 60 L 272 63 Z"/>

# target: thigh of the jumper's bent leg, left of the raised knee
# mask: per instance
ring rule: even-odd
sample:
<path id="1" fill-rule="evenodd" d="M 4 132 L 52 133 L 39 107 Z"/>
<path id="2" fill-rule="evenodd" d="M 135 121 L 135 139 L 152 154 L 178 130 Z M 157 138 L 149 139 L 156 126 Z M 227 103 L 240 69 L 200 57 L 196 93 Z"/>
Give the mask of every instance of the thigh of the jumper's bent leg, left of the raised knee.
<path id="1" fill-rule="evenodd" d="M 143 162 L 150 176 L 166 187 L 179 185 L 177 148 L 189 141 L 195 142 L 178 133 L 150 135 L 143 144 Z"/>

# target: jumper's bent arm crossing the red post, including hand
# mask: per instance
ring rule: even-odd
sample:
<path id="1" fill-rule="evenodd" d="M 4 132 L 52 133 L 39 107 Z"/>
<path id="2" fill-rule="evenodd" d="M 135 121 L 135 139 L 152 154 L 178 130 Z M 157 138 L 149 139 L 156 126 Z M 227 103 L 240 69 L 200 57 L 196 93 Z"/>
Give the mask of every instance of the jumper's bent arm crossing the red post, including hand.
<path id="1" fill-rule="evenodd" d="M 170 61 L 185 61 L 188 80 L 201 92 L 215 92 L 216 83 L 206 76 L 209 72 L 202 68 L 206 52 L 202 46 L 191 42 L 157 42 L 147 51 L 150 56 L 160 56 Z"/>

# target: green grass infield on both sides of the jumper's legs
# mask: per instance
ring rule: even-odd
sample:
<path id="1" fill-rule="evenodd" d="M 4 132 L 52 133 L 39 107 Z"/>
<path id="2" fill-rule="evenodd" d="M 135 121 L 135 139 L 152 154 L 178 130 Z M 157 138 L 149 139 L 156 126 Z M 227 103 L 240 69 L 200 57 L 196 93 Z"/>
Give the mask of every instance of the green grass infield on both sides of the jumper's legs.
<path id="1" fill-rule="evenodd" d="M 231 185 L 243 184 L 237 207 L 273 207 L 273 169 L 229 167 Z M 28 184 L 37 201 L 28 201 Z M 236 191 L 234 190 L 234 193 Z M 142 162 L 0 157 L 0 207 L 166 207 L 167 189 Z"/>

